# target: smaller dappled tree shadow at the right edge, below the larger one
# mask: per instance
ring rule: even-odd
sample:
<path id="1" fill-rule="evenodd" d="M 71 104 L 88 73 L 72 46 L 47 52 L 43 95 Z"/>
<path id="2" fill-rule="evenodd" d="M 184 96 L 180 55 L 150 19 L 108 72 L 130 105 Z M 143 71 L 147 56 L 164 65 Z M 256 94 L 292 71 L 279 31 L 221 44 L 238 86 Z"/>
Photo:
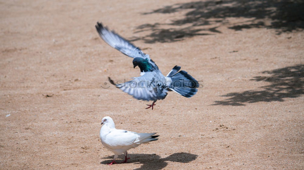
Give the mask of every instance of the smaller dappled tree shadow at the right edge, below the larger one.
<path id="1" fill-rule="evenodd" d="M 213 105 L 244 106 L 244 103 L 284 101 L 284 98 L 295 98 L 304 94 L 304 65 L 296 65 L 263 71 L 270 76 L 257 76 L 251 80 L 266 81 L 271 85 L 260 87 L 261 90 L 228 93 L 224 97 L 229 99 L 215 101 Z"/>

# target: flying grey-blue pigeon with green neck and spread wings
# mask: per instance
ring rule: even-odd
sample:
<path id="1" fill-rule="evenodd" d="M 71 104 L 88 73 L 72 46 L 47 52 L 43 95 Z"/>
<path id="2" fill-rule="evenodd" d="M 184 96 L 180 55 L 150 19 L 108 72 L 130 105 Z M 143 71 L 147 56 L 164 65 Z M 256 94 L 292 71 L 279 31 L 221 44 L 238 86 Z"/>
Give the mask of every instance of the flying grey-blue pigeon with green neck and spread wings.
<path id="1" fill-rule="evenodd" d="M 186 71 L 181 70 L 180 66 L 175 66 L 167 76 L 164 76 L 158 69 L 148 54 L 143 53 L 139 47 L 119 36 L 115 31 L 109 31 L 102 23 L 95 25 L 99 36 L 111 47 L 119 50 L 123 54 L 134 58 L 133 67 L 140 68 L 140 77 L 133 77 L 125 83 L 115 84 L 109 77 L 109 81 L 126 93 L 129 93 L 138 100 L 153 100 L 151 105 L 155 105 L 157 100 L 164 99 L 168 91 L 174 91 L 185 97 L 192 97 L 196 94 L 199 83 Z M 178 72 L 179 71 L 179 72 Z"/>

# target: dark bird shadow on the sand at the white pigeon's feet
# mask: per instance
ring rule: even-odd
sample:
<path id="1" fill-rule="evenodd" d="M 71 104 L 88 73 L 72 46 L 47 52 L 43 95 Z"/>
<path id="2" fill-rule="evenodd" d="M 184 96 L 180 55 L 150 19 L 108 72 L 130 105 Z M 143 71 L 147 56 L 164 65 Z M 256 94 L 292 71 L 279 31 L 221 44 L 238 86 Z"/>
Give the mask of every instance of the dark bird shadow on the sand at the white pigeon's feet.
<path id="1" fill-rule="evenodd" d="M 137 170 L 139 169 L 156 170 L 166 167 L 168 165 L 166 161 L 188 163 L 195 160 L 198 157 L 198 155 L 180 152 L 180 153 L 174 153 L 166 158 L 161 158 L 159 155 L 156 154 L 128 154 L 128 157 L 130 157 L 131 159 L 128 159 L 127 163 L 142 164 L 140 168 L 137 168 Z M 102 161 L 100 162 L 100 164 L 111 163 L 113 156 L 104 157 L 102 159 L 110 159 L 110 160 Z M 118 160 L 117 162 L 123 162 L 123 159 Z M 115 165 L 111 165 L 111 166 L 115 166 Z"/>

